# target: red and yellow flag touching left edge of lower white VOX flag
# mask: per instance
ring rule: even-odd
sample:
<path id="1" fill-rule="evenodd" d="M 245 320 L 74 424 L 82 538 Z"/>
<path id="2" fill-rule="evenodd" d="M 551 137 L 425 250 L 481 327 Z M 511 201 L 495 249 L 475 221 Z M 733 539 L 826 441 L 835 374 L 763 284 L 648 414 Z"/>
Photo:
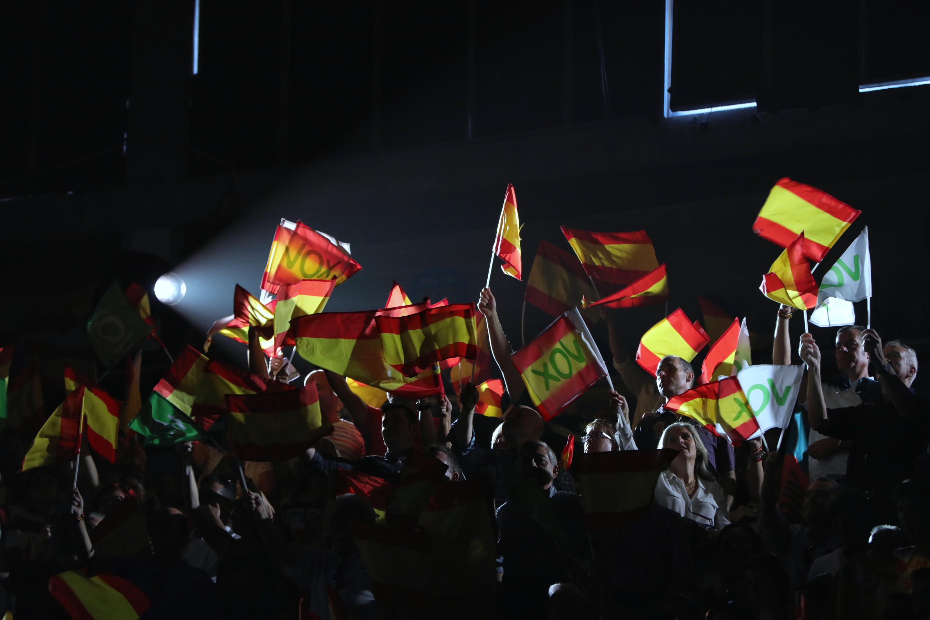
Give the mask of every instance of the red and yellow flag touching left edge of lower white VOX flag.
<path id="1" fill-rule="evenodd" d="M 735 376 L 689 389 L 667 402 L 665 408 L 697 420 L 731 443 L 745 442 L 759 431 L 759 422 Z"/>

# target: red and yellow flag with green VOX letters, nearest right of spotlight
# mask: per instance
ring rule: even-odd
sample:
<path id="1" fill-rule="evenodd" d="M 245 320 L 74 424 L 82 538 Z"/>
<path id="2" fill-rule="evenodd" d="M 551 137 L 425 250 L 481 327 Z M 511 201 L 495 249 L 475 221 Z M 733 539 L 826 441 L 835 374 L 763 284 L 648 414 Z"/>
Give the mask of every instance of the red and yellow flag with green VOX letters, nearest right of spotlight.
<path id="1" fill-rule="evenodd" d="M 301 280 L 335 280 L 342 284 L 362 266 L 348 250 L 332 238 L 302 223 L 281 220 L 276 231 L 268 263 L 261 276 L 261 288 L 277 294 L 282 284 Z"/>

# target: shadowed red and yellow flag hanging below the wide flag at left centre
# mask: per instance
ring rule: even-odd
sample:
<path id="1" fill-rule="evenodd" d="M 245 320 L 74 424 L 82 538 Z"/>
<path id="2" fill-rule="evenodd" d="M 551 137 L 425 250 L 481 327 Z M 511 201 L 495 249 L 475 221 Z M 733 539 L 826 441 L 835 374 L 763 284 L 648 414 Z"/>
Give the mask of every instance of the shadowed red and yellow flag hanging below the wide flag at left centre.
<path id="1" fill-rule="evenodd" d="M 230 450 L 247 461 L 284 461 L 332 432 L 316 384 L 264 394 L 227 394 Z"/>

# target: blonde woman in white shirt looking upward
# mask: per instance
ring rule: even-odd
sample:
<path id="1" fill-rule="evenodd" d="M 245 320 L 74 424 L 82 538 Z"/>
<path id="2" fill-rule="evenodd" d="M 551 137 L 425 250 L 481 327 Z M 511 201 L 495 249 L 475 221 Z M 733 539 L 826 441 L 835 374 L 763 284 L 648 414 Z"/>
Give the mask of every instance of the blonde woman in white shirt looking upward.
<path id="1" fill-rule="evenodd" d="M 658 476 L 656 503 L 717 531 L 729 524 L 724 490 L 707 468 L 704 442 L 686 422 L 670 424 L 658 440 L 659 447 L 677 450 L 670 468 Z"/>

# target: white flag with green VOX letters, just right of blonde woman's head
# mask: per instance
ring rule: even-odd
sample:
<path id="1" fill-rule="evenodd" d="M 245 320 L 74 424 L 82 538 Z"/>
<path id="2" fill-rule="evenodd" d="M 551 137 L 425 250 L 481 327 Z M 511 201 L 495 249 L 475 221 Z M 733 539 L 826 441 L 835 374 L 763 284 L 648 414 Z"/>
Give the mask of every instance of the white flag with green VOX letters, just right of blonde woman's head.
<path id="1" fill-rule="evenodd" d="M 762 432 L 788 427 L 803 375 L 800 365 L 758 364 L 739 371 L 739 386 Z"/>

